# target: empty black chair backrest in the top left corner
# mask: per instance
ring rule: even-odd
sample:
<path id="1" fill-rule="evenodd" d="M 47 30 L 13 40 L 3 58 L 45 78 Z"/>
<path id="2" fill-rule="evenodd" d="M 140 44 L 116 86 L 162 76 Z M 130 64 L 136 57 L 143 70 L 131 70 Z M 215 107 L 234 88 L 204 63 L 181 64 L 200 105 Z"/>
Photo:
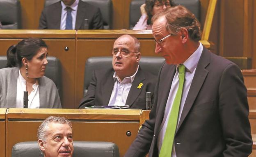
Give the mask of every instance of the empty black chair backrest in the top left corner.
<path id="1" fill-rule="evenodd" d="M 0 0 L 2 29 L 21 29 L 21 4 L 19 0 Z"/>

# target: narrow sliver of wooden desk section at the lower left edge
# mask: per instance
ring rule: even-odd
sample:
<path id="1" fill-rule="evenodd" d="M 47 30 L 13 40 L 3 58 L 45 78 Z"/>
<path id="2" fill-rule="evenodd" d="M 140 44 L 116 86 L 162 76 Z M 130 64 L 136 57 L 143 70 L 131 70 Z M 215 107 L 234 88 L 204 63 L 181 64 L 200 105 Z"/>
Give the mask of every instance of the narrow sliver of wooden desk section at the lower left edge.
<path id="1" fill-rule="evenodd" d="M 0 157 L 5 156 L 5 113 L 6 108 L 0 108 Z"/>

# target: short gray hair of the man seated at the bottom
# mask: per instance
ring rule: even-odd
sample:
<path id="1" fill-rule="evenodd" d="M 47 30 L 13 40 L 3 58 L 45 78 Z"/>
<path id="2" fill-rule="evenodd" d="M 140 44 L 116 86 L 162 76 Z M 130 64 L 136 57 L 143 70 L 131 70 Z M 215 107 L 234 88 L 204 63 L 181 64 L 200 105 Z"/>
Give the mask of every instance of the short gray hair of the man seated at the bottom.
<path id="1" fill-rule="evenodd" d="M 37 139 L 42 139 L 43 142 L 46 142 L 46 133 L 49 127 L 49 124 L 51 122 L 54 123 L 59 123 L 59 124 L 68 124 L 69 127 L 72 130 L 72 124 L 69 120 L 65 119 L 64 117 L 55 117 L 55 116 L 50 116 L 46 118 L 43 123 L 39 126 L 38 131 L 37 131 Z"/>

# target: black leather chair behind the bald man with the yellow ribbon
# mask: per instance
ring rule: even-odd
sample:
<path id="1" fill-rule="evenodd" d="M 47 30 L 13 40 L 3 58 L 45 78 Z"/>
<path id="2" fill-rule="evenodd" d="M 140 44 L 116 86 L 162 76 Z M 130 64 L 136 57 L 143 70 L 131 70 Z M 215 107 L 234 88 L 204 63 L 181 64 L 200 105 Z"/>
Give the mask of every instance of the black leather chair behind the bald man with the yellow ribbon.
<path id="1" fill-rule="evenodd" d="M 141 57 L 139 66 L 153 75 L 158 75 L 158 71 L 164 62 L 163 57 Z M 87 59 L 85 63 L 84 96 L 91 81 L 92 71 L 110 67 L 112 67 L 112 57 L 90 57 Z"/>

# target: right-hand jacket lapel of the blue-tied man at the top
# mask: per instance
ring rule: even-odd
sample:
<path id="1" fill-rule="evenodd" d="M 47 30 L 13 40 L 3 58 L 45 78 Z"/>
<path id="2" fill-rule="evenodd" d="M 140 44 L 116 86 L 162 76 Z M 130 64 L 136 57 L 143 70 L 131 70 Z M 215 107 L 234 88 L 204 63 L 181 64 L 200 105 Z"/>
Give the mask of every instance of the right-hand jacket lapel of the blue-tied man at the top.
<path id="1" fill-rule="evenodd" d="M 79 0 L 78 3 L 78 11 L 76 14 L 76 20 L 75 20 L 75 29 L 78 30 L 81 28 L 82 26 L 82 22 L 84 20 L 84 15 L 86 15 L 87 11 L 87 5 L 85 4 L 85 2 L 82 2 L 81 0 Z"/>

